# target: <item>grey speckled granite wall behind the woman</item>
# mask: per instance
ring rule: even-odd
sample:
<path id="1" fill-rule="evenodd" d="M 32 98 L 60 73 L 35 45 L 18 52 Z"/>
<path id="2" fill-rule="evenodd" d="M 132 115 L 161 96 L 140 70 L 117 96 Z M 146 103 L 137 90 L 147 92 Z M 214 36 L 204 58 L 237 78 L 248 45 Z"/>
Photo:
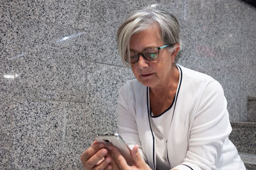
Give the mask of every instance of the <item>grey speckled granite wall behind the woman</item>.
<path id="1" fill-rule="evenodd" d="M 82 169 L 97 132 L 116 131 L 118 88 L 134 78 L 116 50 L 131 10 L 180 20 L 179 64 L 220 81 L 230 120 L 256 96 L 256 11 L 241 1 L 1 1 L 0 169 Z"/>

